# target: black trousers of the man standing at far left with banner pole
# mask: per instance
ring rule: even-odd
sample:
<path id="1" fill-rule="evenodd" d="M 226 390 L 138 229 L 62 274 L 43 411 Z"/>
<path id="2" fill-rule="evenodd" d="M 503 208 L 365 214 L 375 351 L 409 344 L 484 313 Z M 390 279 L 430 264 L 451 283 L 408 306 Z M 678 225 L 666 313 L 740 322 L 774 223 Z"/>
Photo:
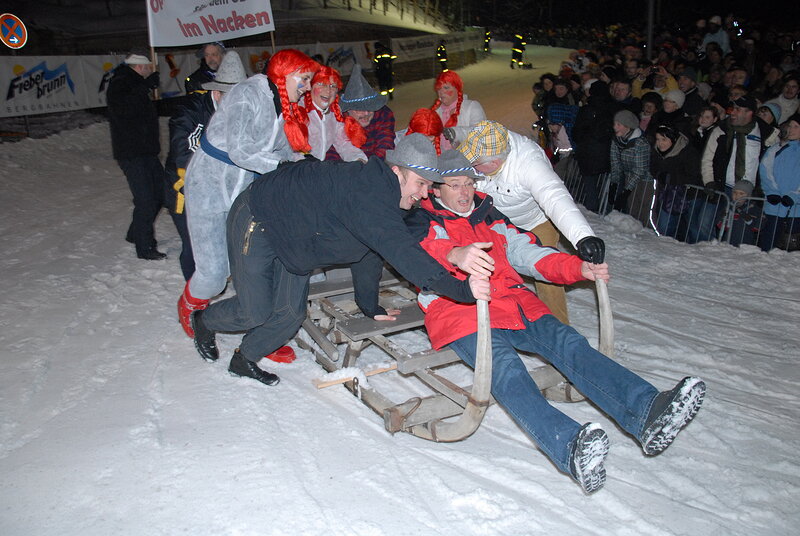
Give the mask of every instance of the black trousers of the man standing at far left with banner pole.
<path id="1" fill-rule="evenodd" d="M 136 156 L 117 160 L 133 195 L 133 217 L 127 238 L 142 254 L 156 247 L 153 224 L 164 205 L 164 168 L 158 156 Z"/>

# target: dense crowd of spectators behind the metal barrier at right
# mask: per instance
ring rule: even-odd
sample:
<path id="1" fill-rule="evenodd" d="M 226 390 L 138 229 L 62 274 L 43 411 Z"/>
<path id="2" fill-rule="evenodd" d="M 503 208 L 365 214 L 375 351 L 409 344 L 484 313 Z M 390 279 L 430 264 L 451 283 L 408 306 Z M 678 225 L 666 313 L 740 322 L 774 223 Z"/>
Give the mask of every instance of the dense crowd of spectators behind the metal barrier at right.
<path id="1" fill-rule="evenodd" d="M 796 248 L 800 31 L 713 15 L 660 28 L 649 54 L 639 28 L 528 35 L 583 45 L 540 76 L 532 108 L 539 142 L 562 177 L 580 177 L 588 209 L 692 243 Z"/>

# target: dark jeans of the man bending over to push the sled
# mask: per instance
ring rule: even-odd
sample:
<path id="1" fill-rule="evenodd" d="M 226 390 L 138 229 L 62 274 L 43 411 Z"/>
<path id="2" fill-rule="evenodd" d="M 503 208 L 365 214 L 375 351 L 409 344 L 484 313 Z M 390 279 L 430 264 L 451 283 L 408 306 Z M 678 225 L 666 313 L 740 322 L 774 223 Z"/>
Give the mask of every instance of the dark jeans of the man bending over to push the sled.
<path id="1" fill-rule="evenodd" d="M 310 274 L 286 270 L 272 249 L 269 229 L 253 221 L 249 201 L 248 188 L 228 213 L 228 260 L 236 296 L 211 304 L 203 323 L 214 331 L 246 331 L 239 350 L 258 361 L 300 329 L 308 308 Z"/>

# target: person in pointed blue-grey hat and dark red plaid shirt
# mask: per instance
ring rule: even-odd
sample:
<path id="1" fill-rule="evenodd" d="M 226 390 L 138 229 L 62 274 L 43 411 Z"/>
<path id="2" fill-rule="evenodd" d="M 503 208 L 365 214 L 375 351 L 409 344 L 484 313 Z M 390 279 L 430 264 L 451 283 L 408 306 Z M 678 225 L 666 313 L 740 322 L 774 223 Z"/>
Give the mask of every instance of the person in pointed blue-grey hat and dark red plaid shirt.
<path id="1" fill-rule="evenodd" d="M 394 149 L 394 113 L 386 106 L 387 97 L 381 95 L 367 83 L 361 74 L 361 66 L 353 66 L 350 80 L 339 97 L 342 113 L 346 113 L 361 125 L 367 140 L 361 150 L 367 157 L 384 158 L 386 151 Z M 341 160 L 335 148 L 328 150 L 325 160 Z"/>

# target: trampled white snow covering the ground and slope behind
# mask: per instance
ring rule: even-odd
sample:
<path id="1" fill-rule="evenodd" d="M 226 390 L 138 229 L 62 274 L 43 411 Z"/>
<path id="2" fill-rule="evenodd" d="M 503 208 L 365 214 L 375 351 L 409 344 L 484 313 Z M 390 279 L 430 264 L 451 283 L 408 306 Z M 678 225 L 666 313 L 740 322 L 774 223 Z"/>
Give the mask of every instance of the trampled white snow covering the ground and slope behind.
<path id="1" fill-rule="evenodd" d="M 548 70 L 565 57 L 531 51 Z M 527 133 L 543 71 L 507 61 L 461 74 Z M 398 128 L 433 98 L 430 82 L 400 86 Z M 587 216 L 608 245 L 616 358 L 660 388 L 693 374 L 709 392 L 653 459 L 592 405 L 562 404 L 611 438 L 608 482 L 586 497 L 496 406 L 469 439 L 435 444 L 389 435 L 343 387 L 317 390 L 307 352 L 266 365 L 273 388 L 227 374 L 236 336 L 203 362 L 176 321 L 169 217 L 166 262 L 123 240 L 130 194 L 105 124 L 0 144 L 0 169 L 0 534 L 797 534 L 800 254 Z M 568 300 L 596 340 L 593 291 Z M 394 372 L 370 381 L 404 389 Z"/>

